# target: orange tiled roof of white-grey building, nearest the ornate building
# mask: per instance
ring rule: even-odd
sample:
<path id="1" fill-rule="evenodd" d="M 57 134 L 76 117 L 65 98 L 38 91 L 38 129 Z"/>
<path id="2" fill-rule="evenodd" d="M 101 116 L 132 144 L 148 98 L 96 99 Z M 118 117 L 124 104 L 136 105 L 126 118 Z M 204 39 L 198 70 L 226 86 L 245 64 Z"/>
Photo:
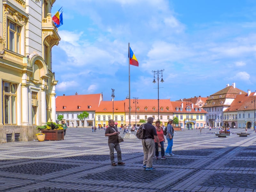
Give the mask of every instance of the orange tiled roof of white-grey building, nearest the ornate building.
<path id="1" fill-rule="evenodd" d="M 95 111 L 98 109 L 101 100 L 102 95 L 100 93 L 57 96 L 56 111 Z"/>

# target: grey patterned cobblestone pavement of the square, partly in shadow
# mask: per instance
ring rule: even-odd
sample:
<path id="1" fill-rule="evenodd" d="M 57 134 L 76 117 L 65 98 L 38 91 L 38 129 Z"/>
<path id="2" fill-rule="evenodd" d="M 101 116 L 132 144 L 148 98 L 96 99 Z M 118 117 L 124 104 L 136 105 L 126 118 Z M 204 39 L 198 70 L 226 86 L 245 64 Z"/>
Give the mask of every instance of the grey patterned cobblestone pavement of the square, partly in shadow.
<path id="1" fill-rule="evenodd" d="M 175 156 L 154 159 L 156 171 L 143 169 L 139 139 L 124 139 L 126 164 L 111 166 L 108 138 L 90 128 L 69 128 L 62 141 L 0 144 L 0 191 L 256 191 L 256 133 L 231 130 L 227 138 L 217 130 L 177 131 Z"/>

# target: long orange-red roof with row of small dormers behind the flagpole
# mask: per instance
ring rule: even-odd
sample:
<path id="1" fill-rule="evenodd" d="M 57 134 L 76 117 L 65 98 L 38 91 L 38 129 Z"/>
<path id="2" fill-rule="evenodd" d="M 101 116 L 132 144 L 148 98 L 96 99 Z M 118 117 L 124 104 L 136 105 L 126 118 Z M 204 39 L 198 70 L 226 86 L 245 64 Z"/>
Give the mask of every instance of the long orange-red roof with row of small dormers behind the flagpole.
<path id="1" fill-rule="evenodd" d="M 135 100 L 134 100 L 135 102 Z M 158 111 L 158 101 L 157 99 L 138 99 L 138 103 L 136 103 L 136 107 L 140 108 L 140 111 L 137 112 L 157 112 Z M 133 99 L 131 99 L 131 112 L 135 111 L 135 103 L 133 103 Z M 147 111 L 145 108 L 147 107 Z M 155 107 L 155 110 L 153 108 Z M 163 111 L 161 110 L 161 107 L 163 107 Z M 167 111 L 167 107 L 169 110 Z M 159 100 L 159 112 L 172 112 L 172 104 L 169 99 L 160 99 Z M 129 111 L 129 99 L 125 100 L 125 112 Z"/>

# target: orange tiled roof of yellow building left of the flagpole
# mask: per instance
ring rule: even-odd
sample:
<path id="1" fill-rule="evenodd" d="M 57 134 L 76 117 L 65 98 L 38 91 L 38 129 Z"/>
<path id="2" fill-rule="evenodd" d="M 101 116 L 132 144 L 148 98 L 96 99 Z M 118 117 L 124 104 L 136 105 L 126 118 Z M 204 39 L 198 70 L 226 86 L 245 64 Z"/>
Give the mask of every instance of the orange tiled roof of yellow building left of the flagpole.
<path id="1" fill-rule="evenodd" d="M 95 112 L 113 112 L 113 101 L 101 101 Z M 114 112 L 124 112 L 124 100 L 114 100 Z"/>

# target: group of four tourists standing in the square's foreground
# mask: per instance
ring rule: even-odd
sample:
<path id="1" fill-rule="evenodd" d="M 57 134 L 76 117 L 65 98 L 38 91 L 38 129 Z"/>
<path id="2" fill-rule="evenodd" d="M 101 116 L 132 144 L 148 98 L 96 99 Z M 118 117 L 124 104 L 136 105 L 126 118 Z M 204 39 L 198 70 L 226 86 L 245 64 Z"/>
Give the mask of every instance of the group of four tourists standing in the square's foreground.
<path id="1" fill-rule="evenodd" d="M 167 140 L 167 148 L 164 151 L 164 129 L 160 126 L 161 122 L 159 120 L 156 121 L 156 127 L 152 125 L 154 122 L 153 117 L 148 117 L 147 123 L 141 125 L 145 129 L 145 134 L 143 139 L 141 140 L 143 146 L 143 168 L 146 171 L 156 170 L 153 168 L 153 158 L 159 159 L 159 148 L 161 148 L 161 159 L 166 159 L 165 156 L 173 156 L 172 153 L 172 145 L 173 145 L 173 134 L 174 129 L 172 127 L 172 119 L 168 120 L 168 124 L 166 127 L 166 140 Z M 125 163 L 122 161 L 121 148 L 118 143 L 118 135 L 120 132 L 115 127 L 114 120 L 108 121 L 108 128 L 106 128 L 105 136 L 108 137 L 108 147 L 110 153 L 110 161 L 112 166 L 124 165 Z M 117 152 L 117 164 L 114 157 L 114 150 Z"/>

